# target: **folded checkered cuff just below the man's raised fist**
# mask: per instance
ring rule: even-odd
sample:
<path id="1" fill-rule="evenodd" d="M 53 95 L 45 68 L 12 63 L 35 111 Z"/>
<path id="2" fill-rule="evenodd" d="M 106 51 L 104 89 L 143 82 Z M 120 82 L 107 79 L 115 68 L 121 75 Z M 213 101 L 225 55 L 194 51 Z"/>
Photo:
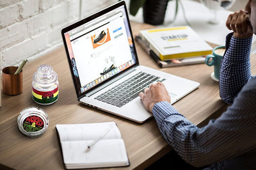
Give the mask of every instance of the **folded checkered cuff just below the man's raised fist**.
<path id="1" fill-rule="evenodd" d="M 250 38 L 237 38 L 228 34 L 226 44 L 226 52 L 224 55 L 228 56 L 228 61 L 244 61 L 250 58 L 252 47 L 252 37 Z"/>

